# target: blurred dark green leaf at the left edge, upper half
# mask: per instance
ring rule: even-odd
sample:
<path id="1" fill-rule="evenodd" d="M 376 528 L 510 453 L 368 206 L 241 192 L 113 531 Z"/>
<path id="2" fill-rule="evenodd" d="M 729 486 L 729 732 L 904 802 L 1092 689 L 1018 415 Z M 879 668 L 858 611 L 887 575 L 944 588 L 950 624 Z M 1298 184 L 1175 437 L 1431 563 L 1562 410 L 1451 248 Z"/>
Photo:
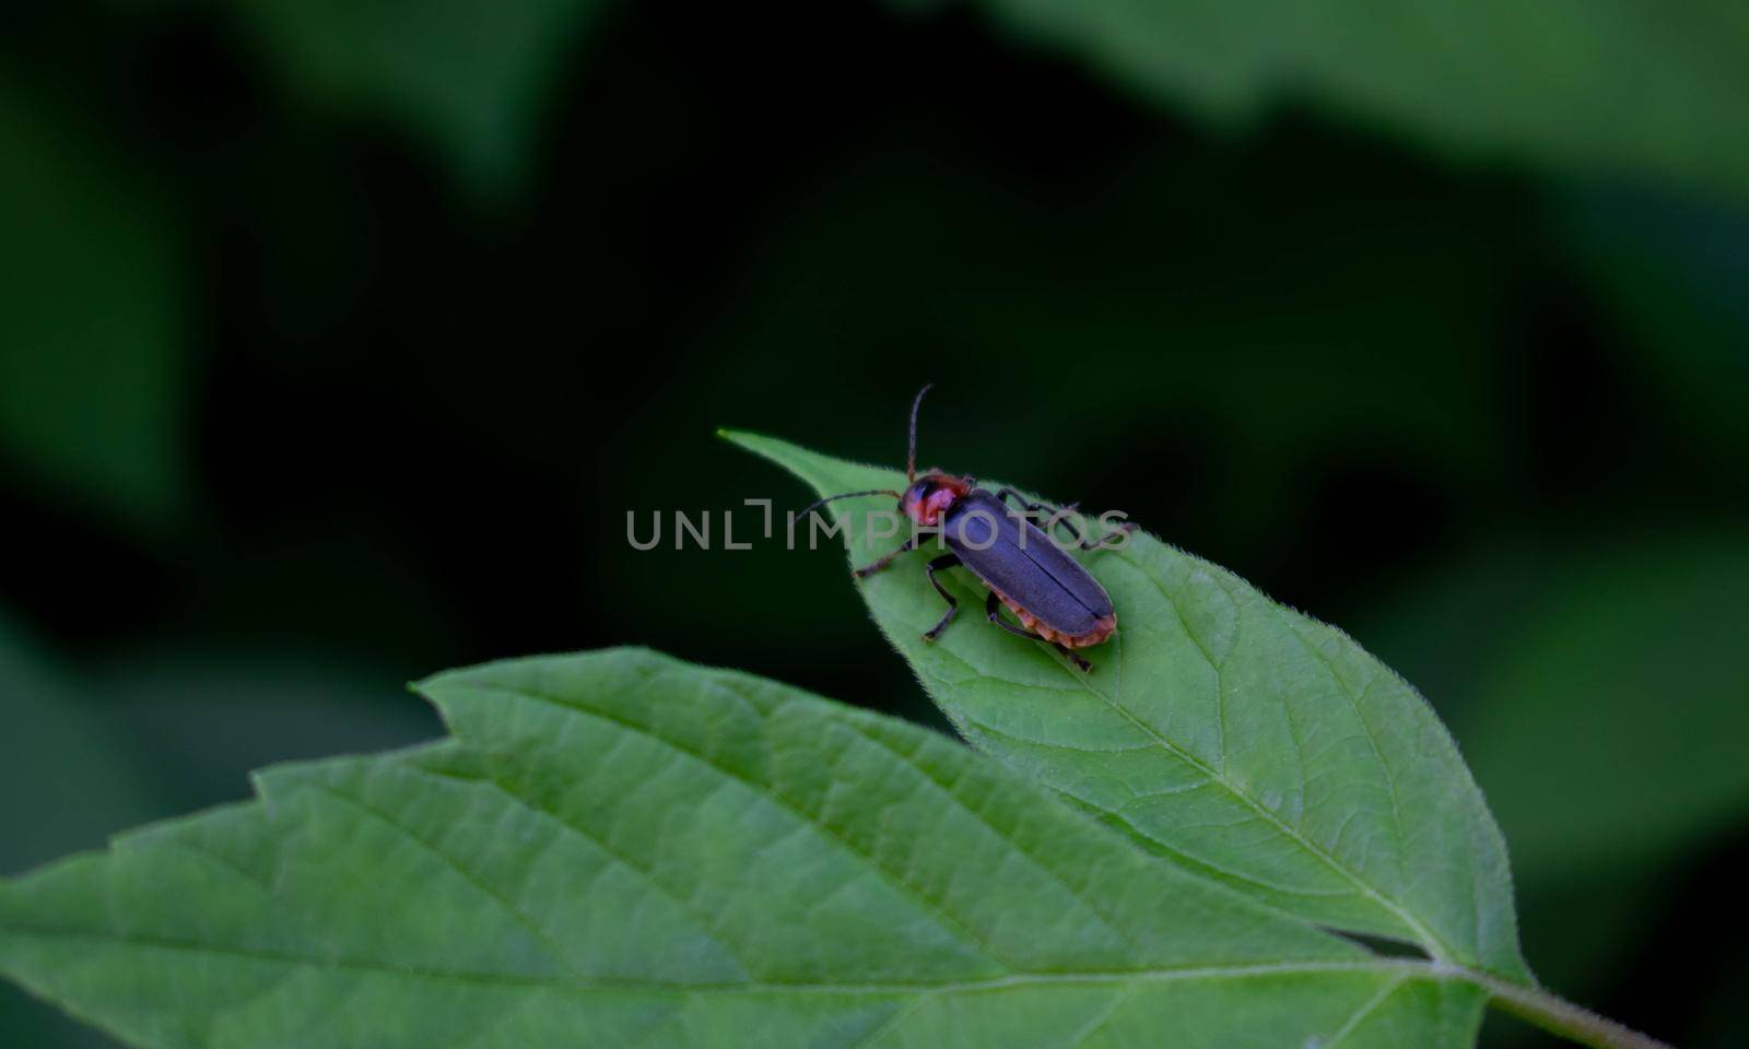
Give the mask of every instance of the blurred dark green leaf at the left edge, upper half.
<path id="1" fill-rule="evenodd" d="M 0 84 L 0 465 L 157 526 L 189 495 L 182 236 L 77 126 Z"/>

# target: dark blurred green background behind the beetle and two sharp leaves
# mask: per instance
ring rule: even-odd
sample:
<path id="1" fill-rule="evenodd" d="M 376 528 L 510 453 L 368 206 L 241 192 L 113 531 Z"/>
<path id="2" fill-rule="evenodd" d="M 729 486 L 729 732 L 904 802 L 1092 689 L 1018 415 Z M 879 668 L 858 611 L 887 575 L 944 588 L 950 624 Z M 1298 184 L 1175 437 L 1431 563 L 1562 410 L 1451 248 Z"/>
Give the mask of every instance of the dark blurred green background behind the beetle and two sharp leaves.
<path id="1" fill-rule="evenodd" d="M 0 872 L 502 656 L 934 720 L 838 554 L 624 535 L 803 502 L 719 425 L 901 462 L 932 379 L 929 463 L 1417 682 L 1544 981 L 1744 1044 L 1749 21 L 1277 7 L 10 10 Z M 0 1042 L 105 1044 L 10 988 Z"/>

